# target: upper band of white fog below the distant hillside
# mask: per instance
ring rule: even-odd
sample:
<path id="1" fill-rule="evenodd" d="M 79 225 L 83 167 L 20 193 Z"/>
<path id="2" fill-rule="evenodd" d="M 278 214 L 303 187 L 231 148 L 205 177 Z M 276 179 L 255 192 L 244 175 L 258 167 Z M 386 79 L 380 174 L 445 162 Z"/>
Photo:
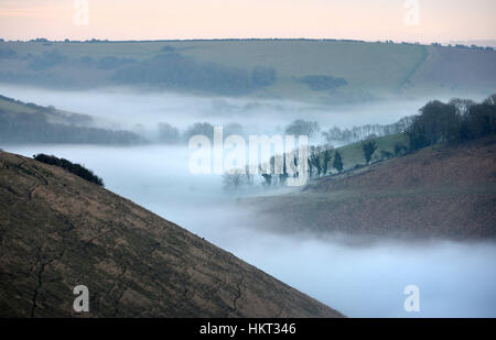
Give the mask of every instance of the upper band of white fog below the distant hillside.
<path id="1" fill-rule="evenodd" d="M 136 92 L 117 88 L 94 91 L 54 91 L 0 84 L 0 95 L 55 106 L 72 112 L 99 118 L 115 129 L 144 129 L 169 122 L 184 129 L 198 121 L 209 123 L 238 122 L 250 132 L 274 133 L 295 119 L 317 121 L 322 128 L 337 125 L 353 128 L 369 123 L 389 124 L 417 113 L 428 100 L 450 98 L 432 97 L 417 100 L 389 100 L 367 106 L 324 107 L 310 103 L 233 98 L 207 98 L 163 92 Z M 490 94 L 487 94 L 490 95 Z M 470 97 L 484 99 L 484 96 Z"/>

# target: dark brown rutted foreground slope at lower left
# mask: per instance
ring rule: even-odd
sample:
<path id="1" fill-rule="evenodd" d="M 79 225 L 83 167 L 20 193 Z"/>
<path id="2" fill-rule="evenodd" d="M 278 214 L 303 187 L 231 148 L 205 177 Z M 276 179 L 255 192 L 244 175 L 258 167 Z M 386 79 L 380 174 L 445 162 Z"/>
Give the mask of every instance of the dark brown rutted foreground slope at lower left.
<path id="1" fill-rule="evenodd" d="M 0 316 L 339 317 L 104 188 L 0 152 Z"/>

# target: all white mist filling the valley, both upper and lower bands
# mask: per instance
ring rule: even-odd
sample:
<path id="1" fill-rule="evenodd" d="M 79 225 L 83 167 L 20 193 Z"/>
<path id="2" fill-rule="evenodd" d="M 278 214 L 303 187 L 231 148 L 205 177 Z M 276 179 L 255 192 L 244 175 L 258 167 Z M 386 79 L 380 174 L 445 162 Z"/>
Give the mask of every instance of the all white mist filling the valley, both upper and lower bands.
<path id="1" fill-rule="evenodd" d="M 119 90 L 56 92 L 0 86 L 0 92 L 26 102 L 90 114 L 105 128 L 139 127 L 141 133 L 150 136 L 157 133 L 159 122 L 183 130 L 194 122 L 236 122 L 247 132 L 268 134 L 280 133 L 284 125 L 301 118 L 325 128 L 390 124 L 417 113 L 428 100 L 328 108 Z M 420 288 L 421 298 L 421 310 L 414 316 L 496 317 L 494 243 L 384 240 L 353 245 L 332 234 L 323 239 L 265 231 L 252 226 L 250 210 L 238 202 L 245 196 L 268 195 L 261 183 L 256 183 L 250 191 L 226 193 L 222 176 L 191 174 L 192 151 L 183 144 L 23 144 L 3 149 L 25 156 L 45 153 L 82 163 L 101 176 L 108 189 L 347 316 L 411 317 L 403 308 L 403 289 L 413 284 Z"/>

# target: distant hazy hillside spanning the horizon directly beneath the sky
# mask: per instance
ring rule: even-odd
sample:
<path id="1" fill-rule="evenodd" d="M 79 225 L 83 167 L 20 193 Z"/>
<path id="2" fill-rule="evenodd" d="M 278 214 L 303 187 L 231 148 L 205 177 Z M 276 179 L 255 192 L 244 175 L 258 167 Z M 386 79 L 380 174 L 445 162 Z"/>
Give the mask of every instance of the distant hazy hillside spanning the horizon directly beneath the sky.
<path id="1" fill-rule="evenodd" d="M 185 58 L 174 64 L 174 68 L 181 65 L 186 69 L 200 67 L 194 75 L 200 77 L 195 78 L 196 83 L 205 81 L 202 77 L 216 78 L 222 74 L 227 77 L 214 79 L 214 84 L 239 77 L 229 88 L 248 81 L 257 67 L 274 69 L 276 81 L 261 87 L 242 85 L 236 92 L 251 97 L 353 102 L 398 94 L 425 95 L 432 90 L 454 95 L 461 89 L 481 90 L 496 85 L 496 52 L 414 44 L 310 40 L 2 42 L 0 52 L 0 56 L 3 55 L 0 81 L 47 87 L 116 85 L 116 73 L 138 66 L 133 73 L 141 74 L 143 79 L 142 84 L 138 81 L 134 85 L 158 86 L 149 78 L 164 77 L 170 80 L 175 75 L 161 75 L 168 64 L 150 61 L 168 53 Z M 209 74 L 213 65 L 216 66 Z M 151 75 L 147 76 L 147 70 Z M 190 76 L 180 72 L 180 78 Z M 299 81 L 305 76 L 343 78 L 347 85 L 316 91 Z M 215 90 L 212 81 L 197 88 L 171 81 L 159 84 L 177 91 L 229 95 L 225 88 Z"/>

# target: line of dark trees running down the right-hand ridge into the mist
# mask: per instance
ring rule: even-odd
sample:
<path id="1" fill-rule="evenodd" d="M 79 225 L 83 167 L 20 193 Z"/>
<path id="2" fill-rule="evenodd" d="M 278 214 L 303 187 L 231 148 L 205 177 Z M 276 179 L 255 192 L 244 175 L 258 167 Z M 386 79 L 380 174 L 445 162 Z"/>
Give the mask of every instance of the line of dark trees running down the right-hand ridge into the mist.
<path id="1" fill-rule="evenodd" d="M 371 131 L 380 125 L 370 127 Z M 337 128 L 335 128 L 337 129 Z M 364 128 L 367 130 L 367 128 Z M 407 136 L 407 144 L 397 142 L 393 145 L 393 152 L 380 150 L 380 160 L 389 160 L 407 155 L 420 149 L 428 147 L 438 143 L 446 143 L 448 145 L 476 140 L 496 133 L 496 95 L 489 96 L 484 101 L 477 103 L 473 100 L 455 98 L 448 103 L 439 100 L 430 101 L 419 110 L 419 114 L 410 116 L 401 119 L 395 124 L 389 125 L 390 131 L 397 131 L 398 135 Z M 320 131 L 316 122 L 308 122 L 296 120 L 287 127 L 285 132 L 291 134 L 312 134 Z M 341 130 L 342 131 L 342 130 Z M 370 131 L 370 130 L 368 130 Z M 325 135 L 325 134 L 324 134 Z M 377 138 L 371 134 L 362 140 L 360 150 L 365 161 L 365 165 L 370 164 L 373 156 L 378 152 Z M 280 166 L 276 168 L 276 158 L 272 156 L 268 169 L 262 172 L 259 166 L 263 186 L 271 187 L 274 185 L 284 185 L 290 176 L 287 171 L 287 160 L 289 155 L 283 154 Z M 294 153 L 293 164 L 298 168 L 298 150 Z M 312 145 L 309 149 L 308 156 L 308 174 L 309 178 L 320 178 L 332 174 L 334 168 L 337 173 L 343 172 L 343 155 L 338 150 L 334 150 L 331 144 Z M 357 164 L 355 167 L 363 167 Z M 299 174 L 293 174 L 299 176 Z M 237 172 L 226 174 L 224 176 L 224 186 L 226 189 L 237 189 L 246 184 L 252 185 L 252 175 L 246 172 Z"/>

